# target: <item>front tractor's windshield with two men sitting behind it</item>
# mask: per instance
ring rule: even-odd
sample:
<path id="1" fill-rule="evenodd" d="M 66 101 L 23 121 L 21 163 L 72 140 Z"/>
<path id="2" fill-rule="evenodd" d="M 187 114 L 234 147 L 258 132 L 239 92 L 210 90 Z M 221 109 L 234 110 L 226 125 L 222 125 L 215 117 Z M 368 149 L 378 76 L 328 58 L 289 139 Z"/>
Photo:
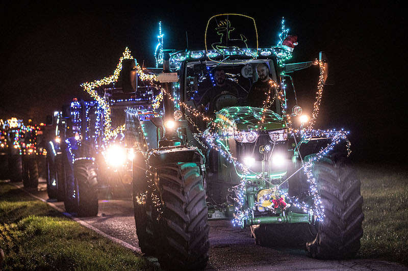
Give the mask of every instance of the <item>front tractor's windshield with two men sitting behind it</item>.
<path id="1" fill-rule="evenodd" d="M 224 107 L 263 107 L 270 80 L 277 82 L 275 63 L 272 60 L 252 60 L 236 64 L 233 61 L 189 62 L 187 64 L 187 99 L 196 108 L 214 114 Z M 271 97 L 275 90 L 271 91 Z M 269 107 L 281 114 L 281 105 L 276 101 Z"/>

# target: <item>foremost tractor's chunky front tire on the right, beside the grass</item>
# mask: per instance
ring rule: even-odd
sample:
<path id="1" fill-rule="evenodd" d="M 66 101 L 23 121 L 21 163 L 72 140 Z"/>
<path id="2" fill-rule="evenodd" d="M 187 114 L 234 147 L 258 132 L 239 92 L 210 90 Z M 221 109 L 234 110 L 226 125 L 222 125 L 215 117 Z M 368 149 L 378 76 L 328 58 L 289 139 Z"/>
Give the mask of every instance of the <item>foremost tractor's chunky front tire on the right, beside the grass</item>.
<path id="1" fill-rule="evenodd" d="M 317 234 L 306 244 L 310 257 L 351 258 L 360 249 L 363 235 L 363 197 L 360 179 L 341 163 L 317 162 L 313 167 L 325 218 L 317 223 Z"/>

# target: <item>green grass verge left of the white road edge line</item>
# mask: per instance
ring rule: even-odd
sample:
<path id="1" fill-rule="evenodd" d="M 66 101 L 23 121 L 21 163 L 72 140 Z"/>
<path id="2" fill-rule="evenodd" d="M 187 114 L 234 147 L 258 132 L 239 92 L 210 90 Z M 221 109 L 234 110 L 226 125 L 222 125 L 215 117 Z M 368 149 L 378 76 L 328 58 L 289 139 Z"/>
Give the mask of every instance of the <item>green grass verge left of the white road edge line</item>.
<path id="1" fill-rule="evenodd" d="M 6 255 L 0 270 L 158 269 L 6 183 L 0 183 L 0 248 Z"/>

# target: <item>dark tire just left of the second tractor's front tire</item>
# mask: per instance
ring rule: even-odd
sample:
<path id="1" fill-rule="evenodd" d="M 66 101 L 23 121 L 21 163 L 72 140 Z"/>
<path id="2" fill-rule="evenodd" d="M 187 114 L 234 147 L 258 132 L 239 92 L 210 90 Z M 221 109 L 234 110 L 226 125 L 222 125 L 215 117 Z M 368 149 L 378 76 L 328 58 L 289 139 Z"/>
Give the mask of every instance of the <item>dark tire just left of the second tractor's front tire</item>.
<path id="1" fill-rule="evenodd" d="M 64 200 L 65 188 L 62 174 L 62 161 L 60 157 L 45 160 L 45 178 L 47 180 L 47 194 L 50 199 Z"/>

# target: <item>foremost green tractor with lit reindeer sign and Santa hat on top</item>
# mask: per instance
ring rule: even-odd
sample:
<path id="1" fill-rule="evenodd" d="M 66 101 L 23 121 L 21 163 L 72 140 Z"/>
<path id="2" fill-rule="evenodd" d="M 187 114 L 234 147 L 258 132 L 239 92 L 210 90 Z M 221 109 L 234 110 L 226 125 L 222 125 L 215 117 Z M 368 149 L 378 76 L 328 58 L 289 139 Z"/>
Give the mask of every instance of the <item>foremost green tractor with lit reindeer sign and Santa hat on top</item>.
<path id="1" fill-rule="evenodd" d="M 230 33 L 244 19 L 254 24 L 212 17 L 206 50 L 164 51 L 160 74 L 126 61 L 161 91 L 159 116 L 126 110 L 125 134 L 135 149 L 139 246 L 164 268 L 206 266 L 211 220 L 232 220 L 250 227 L 259 245 L 304 248 L 314 258 L 352 257 L 360 248 L 363 199 L 346 166 L 347 132 L 313 129 L 328 74 L 324 53 L 288 63 L 297 40 L 284 25 L 277 46 L 251 48 L 249 34 Z M 212 25 L 221 42 L 209 42 Z M 286 86 L 292 72 L 314 64 L 320 77 L 309 118 Z"/>

